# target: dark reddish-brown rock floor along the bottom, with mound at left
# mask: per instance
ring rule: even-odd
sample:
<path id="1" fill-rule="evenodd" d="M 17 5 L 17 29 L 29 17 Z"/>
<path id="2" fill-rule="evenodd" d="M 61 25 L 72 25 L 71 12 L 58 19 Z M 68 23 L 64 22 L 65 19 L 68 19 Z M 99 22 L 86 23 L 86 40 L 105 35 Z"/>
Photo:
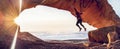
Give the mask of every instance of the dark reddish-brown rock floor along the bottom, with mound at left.
<path id="1" fill-rule="evenodd" d="M 3 36 L 2 36 L 3 35 Z M 0 34 L 0 49 L 9 49 L 12 42 L 12 36 Z M 5 36 L 5 37 L 4 37 Z M 7 38 L 3 40 L 2 38 Z M 28 32 L 19 33 L 16 43 L 16 49 L 120 49 L 120 40 L 112 42 L 107 47 L 107 44 L 100 43 L 62 43 L 62 42 L 45 42 L 38 39 Z"/>

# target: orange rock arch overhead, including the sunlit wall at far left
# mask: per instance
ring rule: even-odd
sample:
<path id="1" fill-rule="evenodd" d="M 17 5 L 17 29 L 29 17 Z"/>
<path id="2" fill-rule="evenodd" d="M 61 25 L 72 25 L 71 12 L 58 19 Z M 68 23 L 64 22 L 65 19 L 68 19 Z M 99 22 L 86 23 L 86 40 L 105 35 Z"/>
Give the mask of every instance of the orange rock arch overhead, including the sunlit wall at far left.
<path id="1" fill-rule="evenodd" d="M 18 0 L 0 0 L 0 25 L 5 30 L 15 26 L 13 20 L 19 15 Z M 75 15 L 73 8 L 83 12 L 84 22 L 97 27 L 119 25 L 120 18 L 107 0 L 23 0 L 22 10 L 37 5 L 51 6 L 68 10 Z"/>

